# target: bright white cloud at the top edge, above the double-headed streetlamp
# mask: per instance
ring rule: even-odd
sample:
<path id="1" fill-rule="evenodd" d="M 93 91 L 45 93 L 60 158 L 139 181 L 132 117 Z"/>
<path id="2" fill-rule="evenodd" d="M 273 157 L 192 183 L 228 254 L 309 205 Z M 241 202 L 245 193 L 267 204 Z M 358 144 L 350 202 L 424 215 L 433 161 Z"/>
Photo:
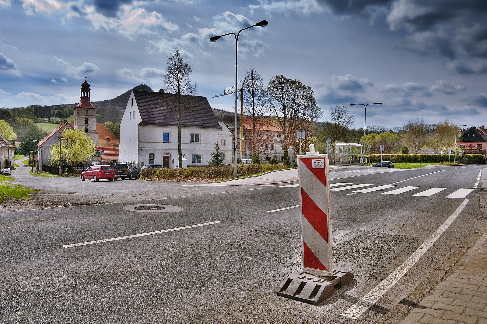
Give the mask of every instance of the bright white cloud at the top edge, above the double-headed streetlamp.
<path id="1" fill-rule="evenodd" d="M 284 0 L 284 1 L 268 1 L 259 0 L 259 5 L 249 5 L 250 12 L 253 13 L 257 9 L 262 9 L 265 12 L 291 14 L 300 13 L 303 15 L 320 14 L 324 8 L 318 4 L 316 0 Z"/>

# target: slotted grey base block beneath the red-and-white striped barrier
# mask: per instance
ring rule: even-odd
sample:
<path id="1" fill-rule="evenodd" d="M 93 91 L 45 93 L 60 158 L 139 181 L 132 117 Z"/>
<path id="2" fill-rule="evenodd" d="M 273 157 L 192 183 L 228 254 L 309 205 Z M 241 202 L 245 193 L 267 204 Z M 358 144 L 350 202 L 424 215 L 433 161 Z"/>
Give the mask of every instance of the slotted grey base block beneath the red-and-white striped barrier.
<path id="1" fill-rule="evenodd" d="M 354 275 L 350 272 L 334 271 L 329 277 L 317 277 L 301 272 L 287 277 L 276 294 L 316 305 L 333 294 L 335 288 L 345 286 L 353 278 Z"/>

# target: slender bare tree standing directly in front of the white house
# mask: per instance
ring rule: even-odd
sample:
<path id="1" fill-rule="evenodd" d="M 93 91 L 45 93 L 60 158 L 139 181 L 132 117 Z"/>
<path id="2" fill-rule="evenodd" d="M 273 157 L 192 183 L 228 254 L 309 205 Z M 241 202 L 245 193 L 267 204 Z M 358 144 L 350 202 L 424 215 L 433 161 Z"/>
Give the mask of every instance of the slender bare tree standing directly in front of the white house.
<path id="1" fill-rule="evenodd" d="M 176 47 L 174 53 L 168 56 L 166 61 L 166 72 L 162 74 L 164 84 L 177 94 L 176 111 L 178 113 L 178 160 L 179 168 L 183 167 L 183 149 L 181 145 L 181 116 L 185 110 L 184 95 L 197 94 L 198 85 L 193 83 L 189 76 L 193 72 L 193 67 L 183 61 L 183 57 Z"/>

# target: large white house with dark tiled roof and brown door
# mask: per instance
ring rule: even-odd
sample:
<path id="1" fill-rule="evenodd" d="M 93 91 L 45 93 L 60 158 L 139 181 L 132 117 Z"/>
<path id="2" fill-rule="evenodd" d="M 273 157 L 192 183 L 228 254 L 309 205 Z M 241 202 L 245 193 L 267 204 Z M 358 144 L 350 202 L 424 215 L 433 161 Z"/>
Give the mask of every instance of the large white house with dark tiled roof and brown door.
<path id="1" fill-rule="evenodd" d="M 177 95 L 132 90 L 120 122 L 119 161 L 177 167 Z M 206 97 L 184 96 L 181 116 L 183 158 L 188 166 L 205 165 L 219 139 L 220 124 Z M 227 136 L 222 133 L 222 136 Z M 224 138 L 222 138 L 224 139 Z M 225 146 L 227 145 L 225 137 Z M 225 150 L 226 151 L 226 150 Z M 226 154 L 225 154 L 225 158 Z"/>

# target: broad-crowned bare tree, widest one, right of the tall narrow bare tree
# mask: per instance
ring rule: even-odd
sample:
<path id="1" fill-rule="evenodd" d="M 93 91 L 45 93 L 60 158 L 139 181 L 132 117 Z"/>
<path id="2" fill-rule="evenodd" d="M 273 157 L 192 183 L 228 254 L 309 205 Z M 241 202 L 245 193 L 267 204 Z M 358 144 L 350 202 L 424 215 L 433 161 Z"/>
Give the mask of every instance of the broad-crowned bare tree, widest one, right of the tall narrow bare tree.
<path id="1" fill-rule="evenodd" d="M 312 121 L 322 115 L 313 90 L 299 80 L 274 76 L 267 86 L 267 109 L 277 120 L 283 134 L 284 161 L 288 161 L 290 139 L 300 121 Z"/>

